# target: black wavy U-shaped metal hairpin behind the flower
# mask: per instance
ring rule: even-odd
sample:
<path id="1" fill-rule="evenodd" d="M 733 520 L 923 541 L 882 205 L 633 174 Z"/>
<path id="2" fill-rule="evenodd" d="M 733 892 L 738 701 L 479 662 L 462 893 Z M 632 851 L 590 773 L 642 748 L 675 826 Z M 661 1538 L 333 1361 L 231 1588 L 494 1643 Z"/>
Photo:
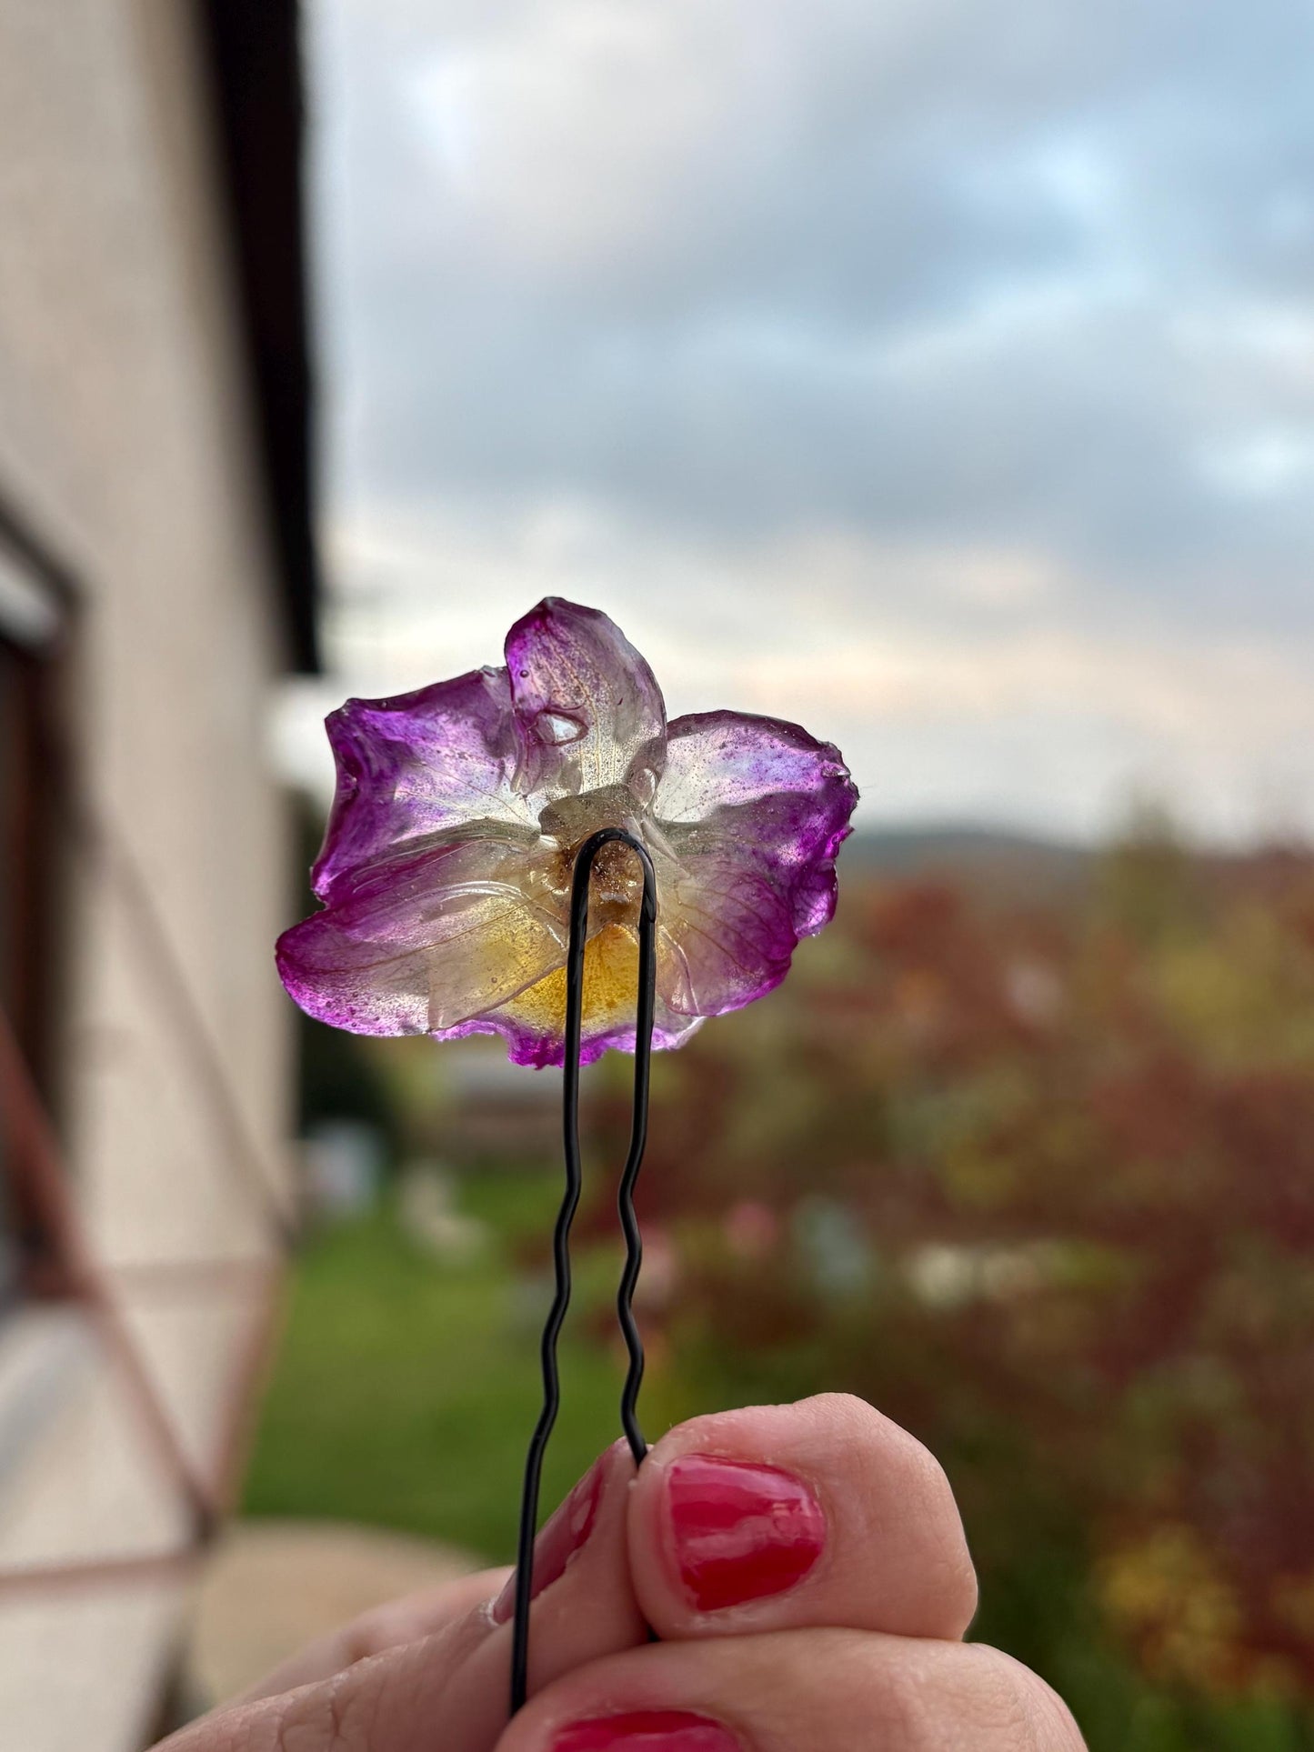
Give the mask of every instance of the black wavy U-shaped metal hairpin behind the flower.
<path id="1" fill-rule="evenodd" d="M 561 1377 L 557 1372 L 557 1339 L 571 1298 L 569 1235 L 575 1212 L 580 1207 L 583 1176 L 580 1169 L 580 1035 L 583 1030 L 583 951 L 589 939 L 589 878 L 603 846 L 618 843 L 629 846 L 643 865 L 643 902 L 639 906 L 639 967 L 638 1002 L 634 1014 L 634 1114 L 629 1134 L 629 1155 L 620 1176 L 617 1207 L 625 1237 L 625 1267 L 617 1293 L 617 1316 L 629 1351 L 629 1370 L 620 1393 L 620 1424 L 634 1456 L 643 1461 L 648 1444 L 638 1424 L 638 1398 L 643 1382 L 643 1340 L 634 1323 L 634 1286 L 643 1265 L 643 1240 L 634 1216 L 634 1183 L 643 1163 L 643 1146 L 648 1141 L 648 1077 L 652 1069 L 652 1016 L 657 993 L 657 878 L 652 858 L 622 827 L 604 827 L 583 843 L 575 858 L 571 883 L 571 934 L 566 953 L 566 1072 L 562 1088 L 562 1135 L 566 1151 L 566 1191 L 552 1233 L 552 1261 L 555 1268 L 555 1295 L 543 1326 L 543 1410 L 529 1442 L 520 1496 L 520 1538 L 515 1561 L 515 1617 L 512 1622 L 512 1713 L 526 1701 L 529 1689 L 529 1601 L 534 1591 L 534 1533 L 538 1531 L 538 1493 L 543 1475 L 552 1426 L 561 1407 Z"/>

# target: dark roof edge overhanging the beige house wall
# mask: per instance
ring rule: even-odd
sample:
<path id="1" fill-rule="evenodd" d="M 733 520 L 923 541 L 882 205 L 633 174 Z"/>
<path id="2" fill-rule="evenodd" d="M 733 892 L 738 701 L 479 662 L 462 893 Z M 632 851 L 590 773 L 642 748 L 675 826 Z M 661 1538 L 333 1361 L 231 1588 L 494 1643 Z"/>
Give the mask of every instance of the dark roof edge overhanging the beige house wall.
<path id="1" fill-rule="evenodd" d="M 319 669 L 305 103 L 298 0 L 193 0 L 214 91 L 237 291 L 291 668 Z"/>

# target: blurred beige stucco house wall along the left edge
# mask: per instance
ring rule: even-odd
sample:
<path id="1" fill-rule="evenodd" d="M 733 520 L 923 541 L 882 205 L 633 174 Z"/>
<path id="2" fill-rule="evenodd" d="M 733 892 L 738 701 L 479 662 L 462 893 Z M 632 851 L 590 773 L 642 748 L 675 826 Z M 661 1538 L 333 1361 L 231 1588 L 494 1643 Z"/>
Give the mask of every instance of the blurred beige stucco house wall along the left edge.
<path id="1" fill-rule="evenodd" d="M 72 745 L 154 920 L 79 851 L 61 1123 L 88 1232 L 119 1265 L 268 1253 L 156 925 L 273 1172 L 289 1114 L 272 969 L 289 822 L 265 732 L 284 631 L 189 21 L 182 0 L 0 0 L 0 496 L 79 580 Z M 116 1282 L 208 1468 L 258 1296 Z M 140 1747 L 187 1600 L 173 1572 L 4 1586 L 16 1563 L 186 1542 L 166 1468 L 79 1321 L 0 1326 L 0 1421 L 12 1388 L 32 1423 L 0 1477 L 0 1720 L 26 1752 Z"/>

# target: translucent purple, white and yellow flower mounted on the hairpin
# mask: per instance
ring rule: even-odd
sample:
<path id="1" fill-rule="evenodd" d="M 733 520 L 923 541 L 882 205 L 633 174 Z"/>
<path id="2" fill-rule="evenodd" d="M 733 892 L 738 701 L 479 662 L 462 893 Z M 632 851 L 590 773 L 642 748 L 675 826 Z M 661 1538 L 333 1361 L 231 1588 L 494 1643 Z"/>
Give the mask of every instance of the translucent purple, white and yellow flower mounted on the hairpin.
<path id="1" fill-rule="evenodd" d="M 657 872 L 653 1046 L 785 978 L 836 908 L 857 790 L 795 724 L 697 711 L 675 724 L 606 615 L 548 597 L 506 668 L 328 718 L 338 790 L 312 872 L 324 909 L 279 939 L 310 1016 L 354 1034 L 501 1034 L 559 1065 L 575 855 L 624 827 Z M 638 858 L 603 848 L 589 894 L 583 1051 L 634 1048 Z"/>

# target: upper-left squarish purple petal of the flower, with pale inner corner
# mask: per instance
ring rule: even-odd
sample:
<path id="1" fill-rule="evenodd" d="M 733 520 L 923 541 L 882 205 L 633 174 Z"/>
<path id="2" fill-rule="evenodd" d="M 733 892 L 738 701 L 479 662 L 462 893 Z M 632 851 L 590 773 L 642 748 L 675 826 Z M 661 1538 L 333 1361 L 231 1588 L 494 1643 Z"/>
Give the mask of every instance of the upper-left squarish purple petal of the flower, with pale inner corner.
<path id="1" fill-rule="evenodd" d="M 338 764 L 319 899 L 343 872 L 459 822 L 529 825 L 512 788 L 519 739 L 505 669 L 475 669 L 394 699 L 349 699 L 328 718 Z"/>

